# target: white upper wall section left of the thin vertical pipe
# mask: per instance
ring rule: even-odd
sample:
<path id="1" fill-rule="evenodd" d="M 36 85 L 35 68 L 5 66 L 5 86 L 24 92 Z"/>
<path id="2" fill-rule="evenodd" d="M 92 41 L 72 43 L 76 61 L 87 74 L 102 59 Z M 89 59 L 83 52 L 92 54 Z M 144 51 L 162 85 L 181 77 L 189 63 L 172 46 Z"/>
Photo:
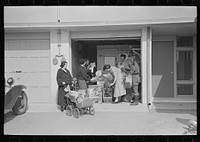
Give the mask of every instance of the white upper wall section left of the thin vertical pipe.
<path id="1" fill-rule="evenodd" d="M 4 7 L 4 23 L 57 22 L 57 8 L 50 6 Z"/>

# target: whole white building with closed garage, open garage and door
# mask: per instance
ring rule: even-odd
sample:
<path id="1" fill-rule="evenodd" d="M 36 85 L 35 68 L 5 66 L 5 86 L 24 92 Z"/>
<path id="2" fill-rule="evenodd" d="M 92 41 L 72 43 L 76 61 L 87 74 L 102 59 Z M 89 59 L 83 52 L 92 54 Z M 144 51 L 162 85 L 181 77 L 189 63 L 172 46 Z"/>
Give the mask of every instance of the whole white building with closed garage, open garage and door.
<path id="1" fill-rule="evenodd" d="M 4 7 L 5 77 L 27 86 L 30 107 L 54 108 L 63 57 L 76 76 L 80 57 L 101 69 L 132 45 L 141 54 L 141 103 L 196 108 L 196 17 L 196 7 Z"/>

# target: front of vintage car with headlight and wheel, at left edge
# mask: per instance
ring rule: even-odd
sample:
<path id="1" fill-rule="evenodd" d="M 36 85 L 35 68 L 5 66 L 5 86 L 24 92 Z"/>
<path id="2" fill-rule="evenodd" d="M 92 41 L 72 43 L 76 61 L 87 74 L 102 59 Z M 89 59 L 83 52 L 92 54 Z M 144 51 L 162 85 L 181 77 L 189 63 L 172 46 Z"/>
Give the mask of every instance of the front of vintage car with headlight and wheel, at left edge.
<path id="1" fill-rule="evenodd" d="M 28 110 L 28 97 L 25 85 L 14 85 L 14 79 L 5 81 L 4 114 L 13 111 L 15 115 L 24 114 Z"/>

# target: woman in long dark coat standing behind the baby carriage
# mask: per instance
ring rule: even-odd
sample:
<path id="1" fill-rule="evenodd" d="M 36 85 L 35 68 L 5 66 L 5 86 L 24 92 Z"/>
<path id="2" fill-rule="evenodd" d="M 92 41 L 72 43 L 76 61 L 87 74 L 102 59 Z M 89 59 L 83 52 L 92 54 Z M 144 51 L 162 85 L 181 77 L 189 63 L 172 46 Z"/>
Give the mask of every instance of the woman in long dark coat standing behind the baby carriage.
<path id="1" fill-rule="evenodd" d="M 64 111 L 65 109 L 65 99 L 64 96 L 66 92 L 64 88 L 72 84 L 72 76 L 67 69 L 67 62 L 61 62 L 60 69 L 57 72 L 57 84 L 58 84 L 58 105 L 60 110 Z"/>

